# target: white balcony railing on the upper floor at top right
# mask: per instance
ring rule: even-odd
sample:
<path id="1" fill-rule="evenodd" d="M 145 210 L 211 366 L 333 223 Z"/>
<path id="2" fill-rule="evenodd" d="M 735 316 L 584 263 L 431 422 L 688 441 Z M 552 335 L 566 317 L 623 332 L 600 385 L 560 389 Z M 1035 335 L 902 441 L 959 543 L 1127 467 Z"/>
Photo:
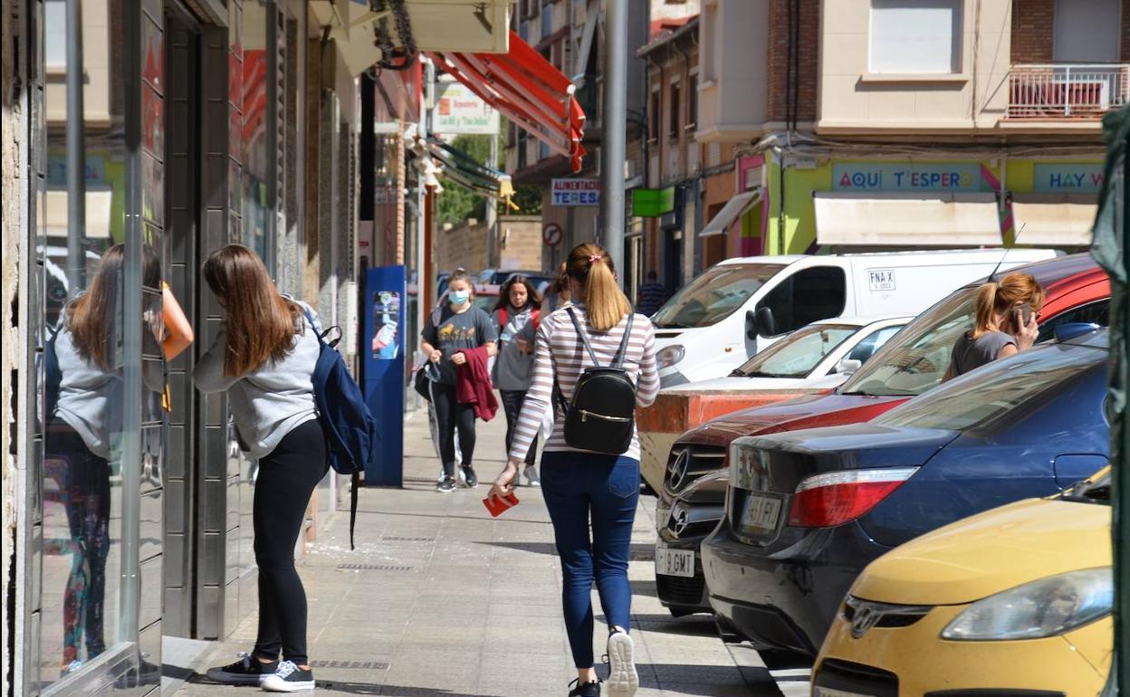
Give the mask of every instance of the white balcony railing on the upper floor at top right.
<path id="1" fill-rule="evenodd" d="M 1097 119 L 1127 103 L 1127 64 L 1014 66 L 1008 119 Z"/>

